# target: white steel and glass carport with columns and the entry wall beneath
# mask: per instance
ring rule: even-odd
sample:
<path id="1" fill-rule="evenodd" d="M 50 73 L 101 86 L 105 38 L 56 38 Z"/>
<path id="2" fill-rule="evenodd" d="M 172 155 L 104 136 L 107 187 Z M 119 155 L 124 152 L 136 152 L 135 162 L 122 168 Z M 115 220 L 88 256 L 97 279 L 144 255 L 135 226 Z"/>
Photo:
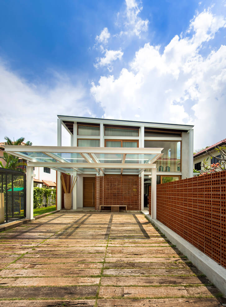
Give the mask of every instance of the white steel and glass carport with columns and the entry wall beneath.
<path id="1" fill-rule="evenodd" d="M 57 209 L 61 210 L 61 173 L 77 176 L 72 209 L 127 205 L 143 210 L 144 172 L 152 177 L 153 218 L 156 212 L 156 164 L 163 148 L 110 148 L 64 146 L 6 146 L 5 150 L 28 161 L 27 217 L 33 218 L 33 167 L 57 171 Z M 151 170 L 151 173 L 150 173 Z"/>

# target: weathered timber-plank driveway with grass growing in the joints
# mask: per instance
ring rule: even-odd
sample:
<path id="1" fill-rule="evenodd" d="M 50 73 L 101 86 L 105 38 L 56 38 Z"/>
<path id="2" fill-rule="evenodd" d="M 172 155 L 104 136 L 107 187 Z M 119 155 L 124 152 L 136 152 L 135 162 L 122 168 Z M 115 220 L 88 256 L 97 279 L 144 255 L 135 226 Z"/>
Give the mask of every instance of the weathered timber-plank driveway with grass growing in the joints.
<path id="1" fill-rule="evenodd" d="M 139 212 L 60 211 L 0 233 L 2 307 L 222 306 Z"/>

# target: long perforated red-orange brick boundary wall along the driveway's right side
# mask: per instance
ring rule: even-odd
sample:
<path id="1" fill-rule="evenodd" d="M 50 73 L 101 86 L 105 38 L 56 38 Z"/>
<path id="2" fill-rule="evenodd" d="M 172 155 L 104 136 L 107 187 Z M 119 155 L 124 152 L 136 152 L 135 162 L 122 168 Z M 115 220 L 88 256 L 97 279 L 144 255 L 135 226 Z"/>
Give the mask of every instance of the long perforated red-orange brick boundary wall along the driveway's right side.
<path id="1" fill-rule="evenodd" d="M 156 197 L 157 220 L 226 268 L 226 171 L 157 185 Z"/>

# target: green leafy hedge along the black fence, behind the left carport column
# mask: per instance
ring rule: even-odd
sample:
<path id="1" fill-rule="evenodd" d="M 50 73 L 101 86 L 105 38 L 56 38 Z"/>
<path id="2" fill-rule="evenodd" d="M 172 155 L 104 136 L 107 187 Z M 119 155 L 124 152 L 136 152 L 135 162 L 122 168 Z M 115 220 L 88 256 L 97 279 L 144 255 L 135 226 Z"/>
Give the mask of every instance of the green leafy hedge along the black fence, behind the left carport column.
<path id="1" fill-rule="evenodd" d="M 34 188 L 34 209 L 43 206 L 43 196 L 46 195 L 46 202 L 51 199 L 52 205 L 56 203 L 56 189 Z"/>

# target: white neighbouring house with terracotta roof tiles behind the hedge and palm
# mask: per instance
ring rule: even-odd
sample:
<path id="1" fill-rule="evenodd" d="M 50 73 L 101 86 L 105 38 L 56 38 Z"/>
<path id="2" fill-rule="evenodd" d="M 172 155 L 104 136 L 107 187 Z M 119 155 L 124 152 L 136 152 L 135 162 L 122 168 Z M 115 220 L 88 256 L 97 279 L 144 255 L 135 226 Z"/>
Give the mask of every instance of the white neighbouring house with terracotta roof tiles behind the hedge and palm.
<path id="1" fill-rule="evenodd" d="M 25 143 L 22 142 L 21 146 L 25 146 Z M 3 152 L 5 150 L 5 142 L 0 143 L 0 161 L 2 165 L 5 166 L 6 162 L 1 157 L 3 157 Z M 19 162 L 25 162 L 25 159 L 18 159 Z M 20 166 L 23 170 L 26 170 L 26 165 Z M 34 187 L 47 187 L 47 188 L 56 188 L 56 171 L 50 169 L 49 167 L 34 167 Z"/>

